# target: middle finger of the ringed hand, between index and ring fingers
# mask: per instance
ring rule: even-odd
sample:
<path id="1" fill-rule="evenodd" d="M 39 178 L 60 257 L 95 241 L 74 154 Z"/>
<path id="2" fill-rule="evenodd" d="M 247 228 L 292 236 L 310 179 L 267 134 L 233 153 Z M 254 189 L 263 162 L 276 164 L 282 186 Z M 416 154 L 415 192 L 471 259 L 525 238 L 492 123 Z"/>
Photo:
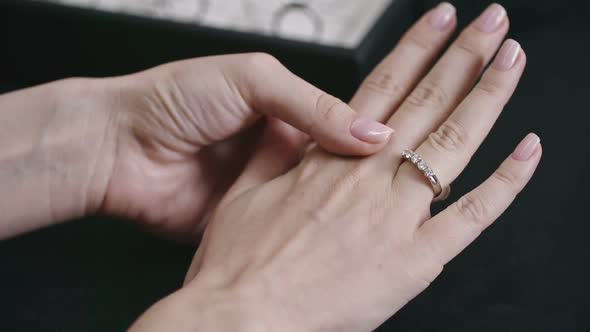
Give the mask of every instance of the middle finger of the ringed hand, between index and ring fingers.
<path id="1" fill-rule="evenodd" d="M 473 88 L 502 43 L 508 26 L 504 8 L 493 4 L 462 31 L 389 119 L 388 125 L 399 132 L 391 144 L 413 149 L 436 130 Z"/>

